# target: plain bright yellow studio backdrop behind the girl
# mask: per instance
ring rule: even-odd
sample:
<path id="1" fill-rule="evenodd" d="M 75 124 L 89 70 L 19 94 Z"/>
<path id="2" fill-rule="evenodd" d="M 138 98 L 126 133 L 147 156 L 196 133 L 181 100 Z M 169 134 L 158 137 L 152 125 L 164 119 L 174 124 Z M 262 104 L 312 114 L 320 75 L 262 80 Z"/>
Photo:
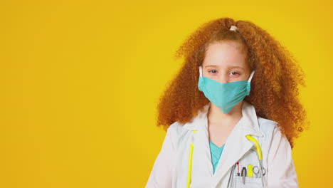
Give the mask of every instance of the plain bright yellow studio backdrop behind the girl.
<path id="1" fill-rule="evenodd" d="M 144 187 L 158 98 L 202 23 L 249 20 L 294 54 L 312 123 L 300 187 L 332 184 L 332 1 L 2 1 L 0 187 Z"/>

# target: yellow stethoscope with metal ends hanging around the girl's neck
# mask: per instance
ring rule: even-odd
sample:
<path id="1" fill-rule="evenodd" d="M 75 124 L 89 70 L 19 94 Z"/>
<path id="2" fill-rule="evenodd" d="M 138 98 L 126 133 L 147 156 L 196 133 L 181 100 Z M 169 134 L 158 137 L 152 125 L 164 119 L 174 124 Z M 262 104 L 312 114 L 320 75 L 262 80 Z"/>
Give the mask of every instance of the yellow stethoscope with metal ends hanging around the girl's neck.
<path id="1" fill-rule="evenodd" d="M 193 131 L 194 133 L 196 132 L 196 130 Z M 263 172 L 264 172 L 264 168 L 263 168 L 263 154 L 261 153 L 261 148 L 260 145 L 258 143 L 257 140 L 255 140 L 254 137 L 252 137 L 251 135 L 246 135 L 245 136 L 248 140 L 252 141 L 255 145 L 255 150 L 258 154 L 258 160 L 259 160 L 259 165 L 260 165 L 260 170 L 255 170 L 255 174 L 258 176 L 258 174 L 260 173 L 260 177 L 261 177 L 261 182 L 263 183 L 263 187 L 265 188 L 265 184 L 264 184 L 264 180 L 263 180 Z M 190 151 L 189 151 L 189 166 L 188 166 L 188 170 L 187 170 L 187 183 L 186 183 L 186 188 L 189 188 L 190 184 L 191 184 L 191 171 L 192 171 L 192 155 L 193 155 L 193 148 L 194 145 L 193 143 L 190 144 Z M 231 169 L 231 173 L 230 173 L 230 177 L 229 177 L 229 181 L 228 181 L 228 187 L 230 187 L 230 182 L 231 182 L 231 177 L 233 174 L 233 171 L 236 168 L 236 164 L 233 164 L 233 168 Z M 258 168 L 258 167 L 257 167 Z M 259 172 L 258 172 L 259 171 Z"/>

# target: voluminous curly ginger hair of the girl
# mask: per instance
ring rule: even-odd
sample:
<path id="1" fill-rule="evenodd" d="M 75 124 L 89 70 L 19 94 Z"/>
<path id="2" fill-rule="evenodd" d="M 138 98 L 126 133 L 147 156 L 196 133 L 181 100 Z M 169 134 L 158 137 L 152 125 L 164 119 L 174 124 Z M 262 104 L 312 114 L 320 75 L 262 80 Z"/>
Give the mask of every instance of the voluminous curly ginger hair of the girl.
<path id="1" fill-rule="evenodd" d="M 238 31 L 230 31 L 237 26 Z M 209 100 L 198 89 L 199 66 L 209 44 L 218 41 L 238 41 L 247 52 L 246 61 L 255 74 L 250 95 L 245 101 L 255 107 L 258 116 L 277 122 L 294 147 L 295 138 L 309 123 L 305 108 L 298 100 L 297 86 L 305 87 L 305 73 L 295 58 L 273 36 L 251 21 L 231 18 L 214 19 L 203 23 L 178 48 L 175 59 L 184 64 L 168 83 L 157 105 L 157 126 L 167 129 L 173 122 L 189 122 Z"/>

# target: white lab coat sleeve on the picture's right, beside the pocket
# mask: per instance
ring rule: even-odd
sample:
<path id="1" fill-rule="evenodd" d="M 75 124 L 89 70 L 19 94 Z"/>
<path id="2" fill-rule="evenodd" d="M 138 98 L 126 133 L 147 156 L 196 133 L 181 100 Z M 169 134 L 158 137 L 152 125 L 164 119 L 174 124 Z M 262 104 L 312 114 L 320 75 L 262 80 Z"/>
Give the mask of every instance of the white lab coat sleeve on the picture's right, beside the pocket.
<path id="1" fill-rule="evenodd" d="M 267 178 L 268 188 L 298 187 L 290 143 L 276 125 L 268 152 Z"/>

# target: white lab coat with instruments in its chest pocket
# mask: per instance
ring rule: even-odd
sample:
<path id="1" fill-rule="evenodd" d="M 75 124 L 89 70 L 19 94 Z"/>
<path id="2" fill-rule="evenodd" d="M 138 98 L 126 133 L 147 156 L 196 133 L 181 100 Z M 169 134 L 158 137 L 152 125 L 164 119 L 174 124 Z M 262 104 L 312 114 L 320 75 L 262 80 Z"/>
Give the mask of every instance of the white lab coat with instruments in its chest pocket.
<path id="1" fill-rule="evenodd" d="M 258 140 L 263 153 L 265 187 L 298 187 L 297 174 L 292 160 L 290 143 L 282 135 L 277 122 L 257 117 L 255 108 L 243 100 L 242 115 L 226 140 L 221 158 L 213 174 L 208 142 L 207 113 L 211 103 L 191 122 L 171 124 L 164 138 L 162 149 L 152 167 L 146 188 L 186 188 L 190 143 L 194 145 L 191 169 L 191 188 L 226 188 L 233 164 L 239 162 L 239 171 L 248 164 L 259 166 L 253 142 L 245 135 Z M 195 133 L 193 130 L 197 130 Z M 261 178 L 236 176 L 236 167 L 230 187 L 262 187 Z M 254 174 L 253 174 L 254 175 Z"/>

